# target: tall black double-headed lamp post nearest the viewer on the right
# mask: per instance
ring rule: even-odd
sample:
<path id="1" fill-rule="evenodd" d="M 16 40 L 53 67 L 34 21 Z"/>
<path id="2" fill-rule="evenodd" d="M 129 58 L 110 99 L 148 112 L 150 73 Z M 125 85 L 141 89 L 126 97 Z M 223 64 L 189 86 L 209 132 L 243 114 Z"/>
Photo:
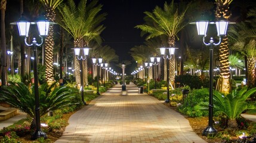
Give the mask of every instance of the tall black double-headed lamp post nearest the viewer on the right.
<path id="1" fill-rule="evenodd" d="M 208 28 L 208 24 L 215 24 L 217 27 L 217 32 L 218 32 L 218 38 L 219 41 L 218 43 L 214 43 L 213 38 L 210 39 L 209 43 L 205 42 L 205 37 L 206 37 L 206 32 Z M 190 23 L 190 24 L 196 24 L 196 28 L 198 29 L 198 35 L 203 36 L 203 43 L 206 46 L 210 46 L 209 48 L 209 58 L 210 58 L 210 63 L 209 63 L 209 120 L 208 120 L 208 127 L 206 127 L 203 130 L 203 135 L 207 136 L 208 134 L 214 134 L 217 133 L 217 130 L 212 126 L 212 114 L 213 114 L 213 96 L 212 96 L 212 89 L 213 89 L 213 46 L 220 45 L 221 43 L 221 36 L 225 36 L 227 32 L 227 26 L 229 24 L 228 21 L 220 20 L 216 22 L 209 22 L 209 21 L 197 21 L 195 23 Z M 232 23 L 235 24 L 235 23 Z"/>

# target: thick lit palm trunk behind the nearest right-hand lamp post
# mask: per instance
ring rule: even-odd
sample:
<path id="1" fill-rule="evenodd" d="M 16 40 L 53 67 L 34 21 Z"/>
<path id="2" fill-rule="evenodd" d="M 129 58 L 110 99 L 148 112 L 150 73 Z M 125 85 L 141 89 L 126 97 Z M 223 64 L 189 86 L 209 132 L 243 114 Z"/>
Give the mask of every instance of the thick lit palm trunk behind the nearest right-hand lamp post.
<path id="1" fill-rule="evenodd" d="M 231 16 L 231 11 L 229 10 L 229 5 L 233 0 L 215 0 L 216 1 L 216 11 L 215 17 L 217 19 L 223 17 L 229 20 Z M 229 41 L 227 36 L 224 36 L 219 48 L 219 56 L 220 56 L 220 77 L 221 77 L 221 87 L 219 89 L 220 92 L 228 94 L 231 89 L 229 86 Z"/>

